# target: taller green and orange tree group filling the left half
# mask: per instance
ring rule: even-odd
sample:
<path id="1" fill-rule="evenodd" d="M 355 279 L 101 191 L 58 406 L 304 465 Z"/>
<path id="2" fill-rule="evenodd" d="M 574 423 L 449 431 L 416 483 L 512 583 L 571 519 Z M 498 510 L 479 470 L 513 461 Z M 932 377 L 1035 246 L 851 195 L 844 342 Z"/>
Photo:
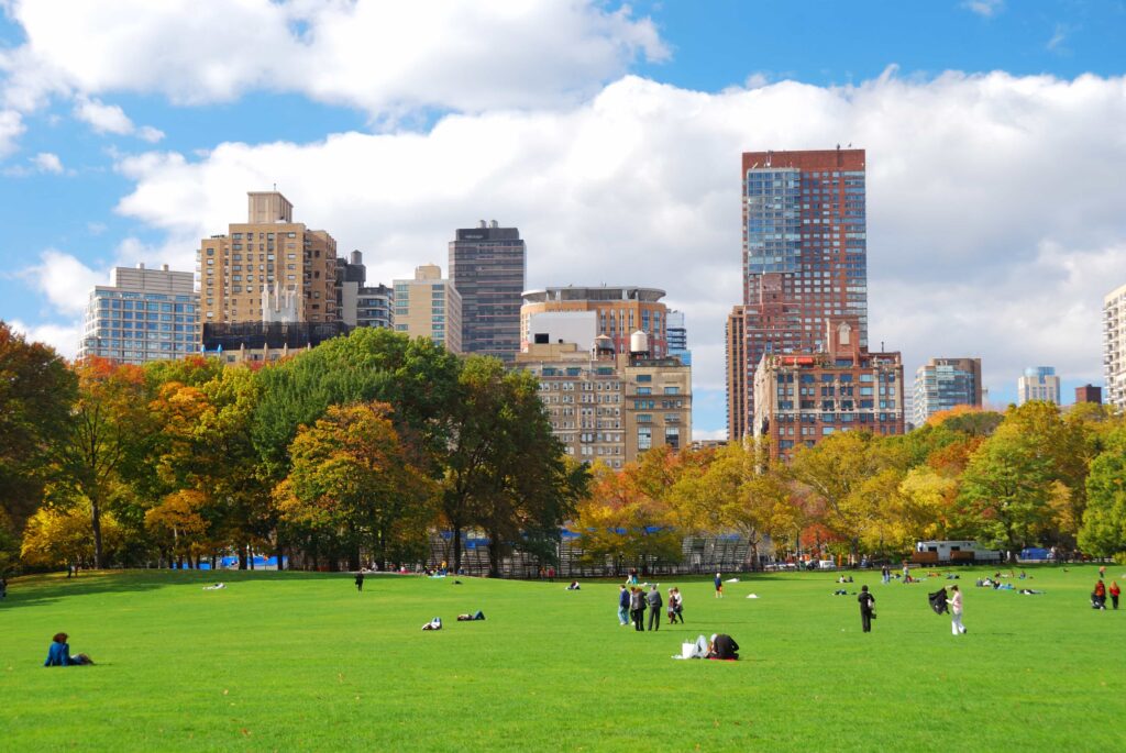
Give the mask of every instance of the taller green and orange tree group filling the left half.
<path id="1" fill-rule="evenodd" d="M 0 322 L 0 570 L 270 552 L 307 567 L 428 557 L 482 530 L 494 572 L 549 557 L 589 474 L 538 384 L 358 329 L 276 364 L 68 364 Z"/>

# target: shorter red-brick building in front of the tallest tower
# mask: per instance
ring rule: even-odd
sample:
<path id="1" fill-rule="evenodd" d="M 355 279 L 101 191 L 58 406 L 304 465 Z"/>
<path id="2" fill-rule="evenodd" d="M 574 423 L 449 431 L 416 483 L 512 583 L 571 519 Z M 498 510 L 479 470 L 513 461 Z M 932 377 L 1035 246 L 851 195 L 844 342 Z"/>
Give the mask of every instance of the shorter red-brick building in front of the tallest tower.
<path id="1" fill-rule="evenodd" d="M 762 355 L 752 428 L 756 438 L 769 440 L 774 457 L 788 460 L 795 448 L 840 431 L 903 433 L 903 359 L 869 352 L 857 324 L 855 317 L 830 320 L 825 346 L 816 351 Z"/>

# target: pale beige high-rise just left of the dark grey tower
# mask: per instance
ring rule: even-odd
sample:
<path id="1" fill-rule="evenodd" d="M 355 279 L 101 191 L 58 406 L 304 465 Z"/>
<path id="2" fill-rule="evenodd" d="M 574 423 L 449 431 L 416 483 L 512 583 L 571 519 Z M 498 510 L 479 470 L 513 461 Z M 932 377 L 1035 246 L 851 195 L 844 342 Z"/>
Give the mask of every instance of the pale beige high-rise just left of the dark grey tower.
<path id="1" fill-rule="evenodd" d="M 463 352 L 462 297 L 441 267 L 415 268 L 414 279 L 394 281 L 395 331 L 430 338 L 452 353 Z"/>

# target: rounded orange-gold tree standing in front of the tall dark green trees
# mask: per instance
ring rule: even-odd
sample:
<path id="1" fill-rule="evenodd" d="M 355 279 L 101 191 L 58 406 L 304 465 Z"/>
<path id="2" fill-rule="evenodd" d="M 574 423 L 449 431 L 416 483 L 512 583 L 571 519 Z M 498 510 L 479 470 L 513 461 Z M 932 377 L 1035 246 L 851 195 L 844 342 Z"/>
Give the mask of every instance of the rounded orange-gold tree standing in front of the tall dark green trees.
<path id="1" fill-rule="evenodd" d="M 411 465 L 391 406 L 331 406 L 291 447 L 293 469 L 275 496 L 287 522 L 339 547 L 352 568 L 360 549 L 386 564 L 418 555 L 434 520 L 436 484 Z"/>

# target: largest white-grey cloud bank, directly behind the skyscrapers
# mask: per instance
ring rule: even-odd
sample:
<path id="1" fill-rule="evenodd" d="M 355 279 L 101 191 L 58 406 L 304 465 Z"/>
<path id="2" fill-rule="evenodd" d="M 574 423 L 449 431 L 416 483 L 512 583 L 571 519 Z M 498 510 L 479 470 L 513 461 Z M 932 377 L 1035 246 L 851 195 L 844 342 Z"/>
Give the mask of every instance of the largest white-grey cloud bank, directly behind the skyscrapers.
<path id="1" fill-rule="evenodd" d="M 383 283 L 445 268 L 455 227 L 497 218 L 528 241 L 529 287 L 668 290 L 687 313 L 697 388 L 722 391 L 741 296 L 740 153 L 851 142 L 868 150 L 874 346 L 902 349 L 909 373 L 980 355 L 994 389 L 1030 364 L 1100 379 L 1098 307 L 1126 269 L 1126 80 L 753 83 L 709 95 L 626 77 L 577 107 L 452 115 L 426 134 L 151 152 L 119 161 L 136 187 L 118 212 L 198 239 L 277 182 L 298 219 L 364 250 Z"/>

